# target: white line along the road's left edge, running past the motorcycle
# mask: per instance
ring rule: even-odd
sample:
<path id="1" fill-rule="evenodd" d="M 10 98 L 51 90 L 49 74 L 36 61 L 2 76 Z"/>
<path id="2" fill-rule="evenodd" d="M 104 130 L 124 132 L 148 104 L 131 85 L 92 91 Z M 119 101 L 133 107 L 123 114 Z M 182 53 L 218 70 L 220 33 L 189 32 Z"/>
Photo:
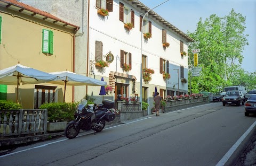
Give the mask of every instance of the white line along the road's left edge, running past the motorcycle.
<path id="1" fill-rule="evenodd" d="M 153 117 L 147 117 L 147 118 L 143 118 L 143 119 L 140 119 L 140 120 L 131 121 L 131 122 L 126 123 L 126 124 L 121 124 L 121 125 L 117 125 L 117 126 L 113 126 L 113 127 L 108 127 L 108 128 L 105 128 L 104 130 L 107 130 L 107 129 L 109 129 L 109 128 L 114 128 L 114 127 L 119 127 L 119 126 L 127 125 L 127 124 L 132 124 L 132 123 L 135 123 L 135 122 L 137 122 L 137 121 L 141 121 L 141 120 L 145 120 L 145 119 L 149 119 L 149 118 L 153 118 Z M 92 133 L 93 133 L 93 132 L 89 132 L 89 133 L 85 133 L 85 134 L 78 135 L 78 136 L 76 136 L 76 137 L 81 137 L 81 136 L 88 135 L 88 134 L 92 134 Z M 20 153 L 20 152 L 25 152 L 25 151 L 28 151 L 28 150 L 33 150 L 34 148 L 44 147 L 44 146 L 51 145 L 51 144 L 55 144 L 55 143 L 59 143 L 59 142 L 62 142 L 62 141 L 67 141 L 67 140 L 68 140 L 68 138 L 65 138 L 65 139 L 61 139 L 61 140 L 59 140 L 59 141 L 55 141 L 55 142 L 43 144 L 43 145 L 36 146 L 36 147 L 32 147 L 32 148 L 27 148 L 27 149 L 25 149 L 25 150 L 21 150 L 21 151 L 18 151 L 18 152 L 13 152 L 13 153 L 1 155 L 0 158 L 3 158 L 3 157 L 5 157 L 5 156 L 9 156 L 9 155 L 12 155 L 12 154 Z"/>

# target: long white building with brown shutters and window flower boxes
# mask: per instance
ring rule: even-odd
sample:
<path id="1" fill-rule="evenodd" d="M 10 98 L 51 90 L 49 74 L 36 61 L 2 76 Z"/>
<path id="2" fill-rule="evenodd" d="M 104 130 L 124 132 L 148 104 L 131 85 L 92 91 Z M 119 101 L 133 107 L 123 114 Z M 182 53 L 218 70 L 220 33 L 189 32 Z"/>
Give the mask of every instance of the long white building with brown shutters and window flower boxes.
<path id="1" fill-rule="evenodd" d="M 155 87 L 160 95 L 176 95 L 188 93 L 188 84 L 182 83 L 181 78 L 188 80 L 188 42 L 194 40 L 185 33 L 151 11 L 143 20 L 142 32 L 151 33 L 151 38 L 142 39 L 141 62 L 141 24 L 143 13 L 149 8 L 141 2 L 117 0 L 88 0 L 88 1 L 29 1 L 20 2 L 33 5 L 61 19 L 76 24 L 79 31 L 75 40 L 74 72 L 101 79 L 112 83 L 113 92 L 104 99 L 117 100 L 117 94 L 123 97 L 137 95 L 140 97 L 140 67 L 154 69 L 149 83 L 142 82 L 142 101 L 153 107 L 153 92 Z M 47 5 L 46 5 L 47 4 Z M 161 7 L 161 6 L 159 6 Z M 108 9 L 108 15 L 99 12 L 101 8 Z M 175 13 L 173 13 L 175 14 Z M 125 28 L 126 23 L 132 23 L 133 28 Z M 163 42 L 170 47 L 163 47 Z M 107 60 L 109 67 L 96 67 L 97 59 Z M 131 70 L 123 71 L 123 65 L 129 64 Z M 163 79 L 162 72 L 171 75 L 169 80 Z M 179 74 L 178 74 L 179 73 Z M 109 79 L 114 76 L 114 82 Z M 143 80 L 143 79 L 142 79 Z M 111 83 L 109 83 L 109 81 Z M 114 84 L 113 84 L 114 83 Z M 89 96 L 101 102 L 100 88 L 97 86 L 75 87 L 75 100 Z"/>

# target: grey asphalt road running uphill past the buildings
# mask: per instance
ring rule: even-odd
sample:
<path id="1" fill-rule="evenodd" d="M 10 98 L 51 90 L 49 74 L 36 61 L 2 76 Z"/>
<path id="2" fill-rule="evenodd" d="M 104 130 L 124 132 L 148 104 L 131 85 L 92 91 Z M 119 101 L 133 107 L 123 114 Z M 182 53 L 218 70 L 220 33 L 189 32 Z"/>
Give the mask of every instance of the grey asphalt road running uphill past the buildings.
<path id="1" fill-rule="evenodd" d="M 232 165 L 255 120 L 243 106 L 209 103 L 19 147 L 0 165 Z"/>

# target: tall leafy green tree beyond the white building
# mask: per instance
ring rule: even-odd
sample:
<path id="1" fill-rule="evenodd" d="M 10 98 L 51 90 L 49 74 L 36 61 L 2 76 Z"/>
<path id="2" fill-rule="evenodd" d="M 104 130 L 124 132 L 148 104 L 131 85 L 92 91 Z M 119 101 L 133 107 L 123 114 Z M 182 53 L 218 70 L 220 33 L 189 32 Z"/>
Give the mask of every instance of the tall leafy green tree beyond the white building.
<path id="1" fill-rule="evenodd" d="M 249 45 L 248 35 L 244 34 L 245 20 L 242 14 L 232 9 L 229 15 L 222 18 L 216 14 L 205 21 L 200 18 L 196 31 L 188 31 L 188 35 L 196 40 L 189 43 L 189 53 L 192 49 L 200 49 L 198 63 L 203 67 L 199 77 L 191 78 L 193 93 L 196 89 L 217 92 L 223 86 L 234 84 L 234 73 L 242 72 L 239 71 L 242 53 L 244 47 Z M 193 59 L 191 57 L 191 64 L 194 64 Z"/>

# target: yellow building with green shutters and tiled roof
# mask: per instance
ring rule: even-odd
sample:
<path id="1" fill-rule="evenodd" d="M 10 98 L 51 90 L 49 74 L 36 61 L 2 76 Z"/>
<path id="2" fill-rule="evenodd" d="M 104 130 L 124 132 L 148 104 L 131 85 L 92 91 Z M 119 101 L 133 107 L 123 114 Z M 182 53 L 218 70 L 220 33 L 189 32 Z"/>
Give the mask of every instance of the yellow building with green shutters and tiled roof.
<path id="1" fill-rule="evenodd" d="M 74 34 L 79 29 L 55 16 L 13 0 L 0 1 L 0 70 L 17 65 L 43 72 L 74 71 Z M 50 83 L 20 85 L 22 108 L 63 101 L 64 87 Z M 16 100 L 17 86 L 0 85 L 0 99 Z M 71 102 L 72 86 L 66 98 Z"/>

